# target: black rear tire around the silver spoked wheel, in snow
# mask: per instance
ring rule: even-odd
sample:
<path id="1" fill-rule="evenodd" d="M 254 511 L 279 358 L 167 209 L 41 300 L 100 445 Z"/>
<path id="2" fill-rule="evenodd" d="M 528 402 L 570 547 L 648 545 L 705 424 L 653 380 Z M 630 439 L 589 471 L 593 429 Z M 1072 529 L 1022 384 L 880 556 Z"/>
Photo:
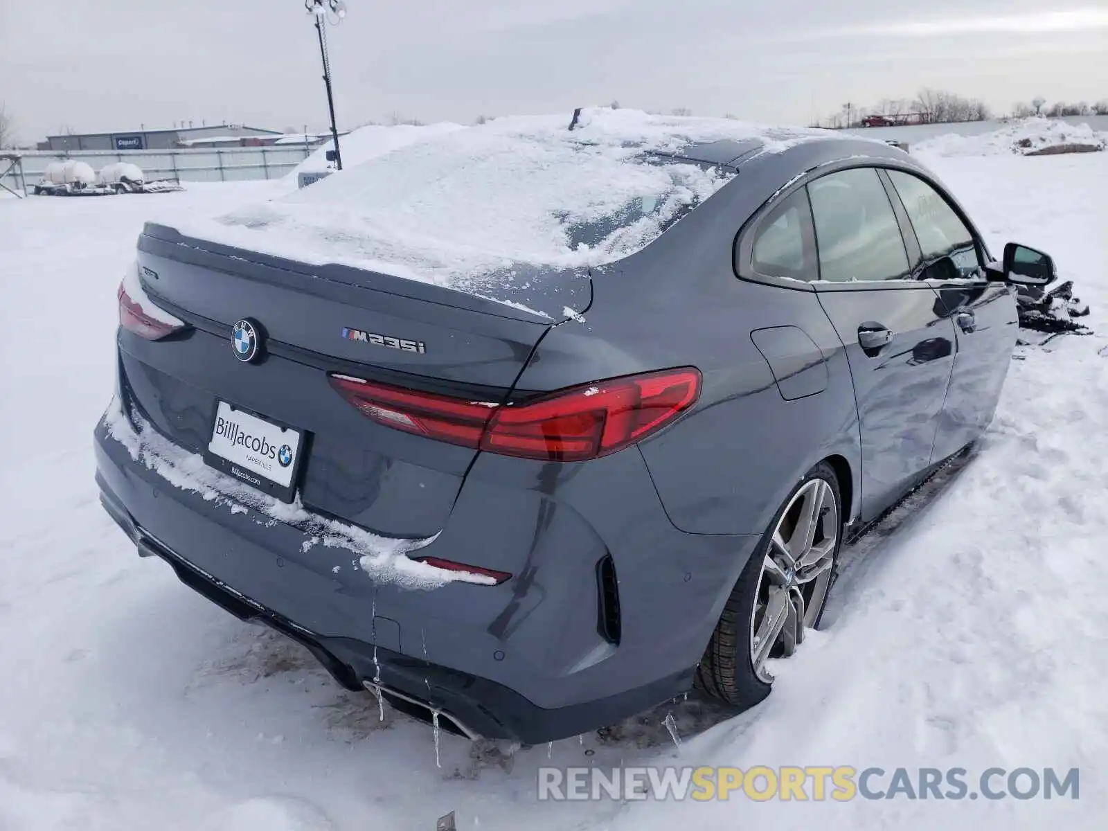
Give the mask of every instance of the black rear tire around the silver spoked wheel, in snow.
<path id="1" fill-rule="evenodd" d="M 694 685 L 712 698 L 731 705 L 740 711 L 753 707 L 766 698 L 772 689 L 771 684 L 767 684 L 755 673 L 750 655 L 750 620 L 755 611 L 758 583 L 761 578 L 762 561 L 769 548 L 773 531 L 793 495 L 813 479 L 822 479 L 831 486 L 837 514 L 834 527 L 838 529 L 831 581 L 815 616 L 815 626 L 819 627 L 823 618 L 823 611 L 827 608 L 827 598 L 834 586 L 839 568 L 839 550 L 842 546 L 842 499 L 839 492 L 839 480 L 834 469 L 827 462 L 820 462 L 812 468 L 789 492 L 789 496 L 777 510 L 772 522 L 766 529 L 758 547 L 751 555 L 750 562 L 743 567 L 735 588 L 731 589 L 731 596 L 728 597 L 727 604 L 724 606 L 724 613 L 716 624 L 716 630 L 712 633 L 708 648 L 705 649 L 704 657 L 697 667 Z"/>

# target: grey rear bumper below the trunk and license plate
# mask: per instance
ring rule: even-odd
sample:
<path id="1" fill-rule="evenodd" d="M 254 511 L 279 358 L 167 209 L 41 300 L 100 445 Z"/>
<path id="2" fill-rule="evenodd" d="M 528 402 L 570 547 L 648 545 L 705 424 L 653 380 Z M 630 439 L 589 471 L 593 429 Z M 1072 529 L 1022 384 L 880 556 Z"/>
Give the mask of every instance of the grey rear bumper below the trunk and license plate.
<path id="1" fill-rule="evenodd" d="M 102 503 L 140 554 L 166 561 L 182 582 L 237 617 L 298 640 L 343 687 L 378 685 L 413 716 L 439 712 L 462 732 L 523 743 L 613 725 L 688 690 L 729 586 L 757 543 L 679 532 L 657 502 L 660 521 L 624 523 L 626 551 L 608 553 L 568 509 L 561 516 L 547 509 L 540 543 L 534 525 L 505 515 L 515 513 L 509 494 L 482 493 L 493 485 L 475 481 L 450 525 L 419 553 L 451 558 L 466 547 L 456 540 L 461 512 L 469 533 L 481 529 L 484 537 L 471 546 L 530 552 L 527 563 L 500 586 L 401 588 L 371 579 L 348 547 L 172 484 L 112 438 L 106 420 L 96 428 L 95 452 Z M 637 453 L 626 456 L 643 464 Z M 486 480 L 495 478 L 491 471 Z M 642 482 L 648 486 L 648 476 Z M 653 489 L 650 495 L 657 500 Z M 619 574 L 616 643 L 597 626 L 596 563 L 605 557 Z M 634 568 L 637 560 L 645 572 Z"/>

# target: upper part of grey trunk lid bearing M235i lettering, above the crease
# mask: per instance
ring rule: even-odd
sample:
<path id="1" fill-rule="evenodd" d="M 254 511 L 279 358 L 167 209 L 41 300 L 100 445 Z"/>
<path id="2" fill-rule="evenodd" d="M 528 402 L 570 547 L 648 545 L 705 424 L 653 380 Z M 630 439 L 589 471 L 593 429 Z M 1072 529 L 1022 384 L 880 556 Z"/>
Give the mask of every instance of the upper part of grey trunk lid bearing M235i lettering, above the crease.
<path id="1" fill-rule="evenodd" d="M 294 350 L 475 386 L 510 388 L 546 328 L 592 301 L 587 268 L 519 266 L 491 298 L 476 288 L 244 252 L 154 224 L 138 252 L 153 295 L 171 310 L 222 325 L 228 338 L 248 317 L 267 340 Z M 173 265 L 158 270 L 153 258 Z"/>

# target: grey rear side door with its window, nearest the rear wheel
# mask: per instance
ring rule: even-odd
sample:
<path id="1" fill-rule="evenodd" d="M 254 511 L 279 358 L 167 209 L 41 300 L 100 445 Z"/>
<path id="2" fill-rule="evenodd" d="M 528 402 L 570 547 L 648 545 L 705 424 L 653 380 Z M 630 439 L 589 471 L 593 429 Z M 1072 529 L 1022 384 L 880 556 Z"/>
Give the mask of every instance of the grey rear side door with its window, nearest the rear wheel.
<path id="1" fill-rule="evenodd" d="M 875 167 L 808 183 L 817 296 L 847 349 L 862 441 L 861 516 L 915 484 L 931 462 L 954 365 L 954 322 L 912 278 L 893 203 Z"/>

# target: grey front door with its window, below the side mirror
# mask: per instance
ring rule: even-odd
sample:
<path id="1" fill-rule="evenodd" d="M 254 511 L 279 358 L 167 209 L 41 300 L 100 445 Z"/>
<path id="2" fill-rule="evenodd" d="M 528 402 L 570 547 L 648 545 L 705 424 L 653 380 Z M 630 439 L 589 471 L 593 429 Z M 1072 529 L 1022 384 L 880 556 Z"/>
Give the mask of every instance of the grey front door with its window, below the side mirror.
<path id="1" fill-rule="evenodd" d="M 886 170 L 907 219 L 913 271 L 931 285 L 954 321 L 954 371 L 932 461 L 977 439 L 996 412 L 1018 335 L 1016 302 L 1003 283 L 985 277 L 987 252 L 942 189 L 911 173 Z"/>

